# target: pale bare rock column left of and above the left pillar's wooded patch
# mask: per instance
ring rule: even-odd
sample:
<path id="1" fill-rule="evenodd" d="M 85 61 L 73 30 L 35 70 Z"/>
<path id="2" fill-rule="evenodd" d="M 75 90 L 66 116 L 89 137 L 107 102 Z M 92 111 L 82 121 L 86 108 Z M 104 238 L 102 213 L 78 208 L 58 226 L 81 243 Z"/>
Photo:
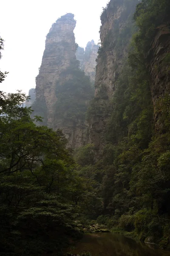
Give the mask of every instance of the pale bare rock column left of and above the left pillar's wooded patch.
<path id="1" fill-rule="evenodd" d="M 46 125 L 53 128 L 54 105 L 57 101 L 56 83 L 60 74 L 67 69 L 71 61 L 76 60 L 74 28 L 76 21 L 73 14 L 59 18 L 51 27 L 45 41 L 45 51 L 39 75 L 36 78 L 36 113 L 42 112 Z M 46 112 L 46 113 L 44 113 Z"/>

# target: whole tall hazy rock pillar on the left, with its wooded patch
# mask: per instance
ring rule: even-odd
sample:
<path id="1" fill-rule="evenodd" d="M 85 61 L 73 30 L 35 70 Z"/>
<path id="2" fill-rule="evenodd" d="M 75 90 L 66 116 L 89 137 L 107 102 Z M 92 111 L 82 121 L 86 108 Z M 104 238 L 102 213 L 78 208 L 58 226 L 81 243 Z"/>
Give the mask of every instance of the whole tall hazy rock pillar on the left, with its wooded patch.
<path id="1" fill-rule="evenodd" d="M 73 14 L 54 23 L 47 35 L 39 75 L 36 78 L 36 101 L 33 109 L 44 117 L 43 124 L 62 129 L 68 146 L 85 143 L 85 112 L 91 97 L 91 84 L 79 69 Z"/>

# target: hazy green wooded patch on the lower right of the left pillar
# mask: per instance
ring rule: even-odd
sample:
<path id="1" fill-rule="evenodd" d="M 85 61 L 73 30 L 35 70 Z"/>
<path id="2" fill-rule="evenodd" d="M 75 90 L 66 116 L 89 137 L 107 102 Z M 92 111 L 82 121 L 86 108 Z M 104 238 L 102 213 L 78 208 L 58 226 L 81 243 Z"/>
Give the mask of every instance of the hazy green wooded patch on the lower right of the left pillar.
<path id="1" fill-rule="evenodd" d="M 88 102 L 93 95 L 91 82 L 88 76 L 79 69 L 79 61 L 73 61 L 70 67 L 64 70 L 61 77 L 68 80 L 64 84 L 59 81 L 56 83 L 56 111 L 55 119 L 85 120 L 85 113 L 88 108 Z"/>

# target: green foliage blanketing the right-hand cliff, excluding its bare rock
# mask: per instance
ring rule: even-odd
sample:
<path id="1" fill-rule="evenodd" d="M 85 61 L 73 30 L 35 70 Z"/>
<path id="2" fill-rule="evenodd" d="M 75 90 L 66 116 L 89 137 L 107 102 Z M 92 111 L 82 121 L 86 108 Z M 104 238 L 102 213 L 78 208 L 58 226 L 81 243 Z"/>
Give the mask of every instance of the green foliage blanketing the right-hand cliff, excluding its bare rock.
<path id="1" fill-rule="evenodd" d="M 105 19 L 106 10 L 102 19 Z M 91 169 L 89 177 L 94 175 L 97 183 L 98 197 L 102 202 L 102 207 L 96 209 L 96 215 L 100 214 L 97 221 L 109 228 L 133 232 L 140 239 L 152 236 L 153 241 L 162 247 L 167 245 L 170 235 L 170 96 L 164 93 L 153 109 L 146 57 L 157 26 L 168 21 L 169 13 L 168 0 L 142 0 L 134 13 L 137 29 L 132 29 L 129 17 L 125 29 L 115 41 L 112 32 L 108 33 L 99 49 L 98 58 L 103 63 L 105 52 L 113 48 L 121 52 L 123 42 L 137 31 L 116 81 L 112 111 L 109 110 L 111 118 L 105 133 L 106 143 L 99 160 L 95 160 L 95 148 L 91 153 L 93 160 L 85 160 L 85 148 L 79 151 L 81 154 L 84 150 L 85 155 L 77 160 L 85 174 Z M 161 65 L 168 81 L 168 52 Z M 102 92 L 91 104 L 90 117 L 107 113 L 105 105 L 107 107 L 108 102 L 101 99 L 104 99 Z M 153 113 L 159 116 L 159 129 L 154 129 Z M 100 177 L 96 175 L 98 171 Z"/>

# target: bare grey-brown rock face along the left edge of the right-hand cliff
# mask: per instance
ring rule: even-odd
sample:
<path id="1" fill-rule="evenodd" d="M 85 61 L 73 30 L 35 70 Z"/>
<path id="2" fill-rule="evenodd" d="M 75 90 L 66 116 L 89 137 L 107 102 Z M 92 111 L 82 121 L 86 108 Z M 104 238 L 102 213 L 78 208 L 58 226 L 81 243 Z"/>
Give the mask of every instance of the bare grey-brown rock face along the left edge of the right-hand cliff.
<path id="1" fill-rule="evenodd" d="M 105 144 L 105 128 L 111 113 L 116 80 L 122 69 L 133 30 L 133 15 L 138 0 L 111 0 L 101 15 L 101 47 L 97 58 L 95 99 L 90 114 L 90 142 L 100 151 Z"/>

